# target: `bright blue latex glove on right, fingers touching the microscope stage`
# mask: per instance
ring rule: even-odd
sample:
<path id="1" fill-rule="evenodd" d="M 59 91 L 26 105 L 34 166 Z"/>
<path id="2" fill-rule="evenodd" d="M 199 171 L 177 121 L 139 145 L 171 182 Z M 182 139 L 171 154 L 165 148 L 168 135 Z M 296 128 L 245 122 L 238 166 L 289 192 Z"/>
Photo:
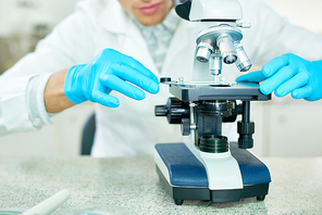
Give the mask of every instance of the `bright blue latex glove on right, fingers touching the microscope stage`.
<path id="1" fill-rule="evenodd" d="M 307 61 L 288 53 L 267 63 L 261 71 L 239 76 L 236 81 L 260 83 L 260 91 L 277 97 L 292 93 L 294 99 L 315 101 L 322 98 L 322 61 Z"/>

